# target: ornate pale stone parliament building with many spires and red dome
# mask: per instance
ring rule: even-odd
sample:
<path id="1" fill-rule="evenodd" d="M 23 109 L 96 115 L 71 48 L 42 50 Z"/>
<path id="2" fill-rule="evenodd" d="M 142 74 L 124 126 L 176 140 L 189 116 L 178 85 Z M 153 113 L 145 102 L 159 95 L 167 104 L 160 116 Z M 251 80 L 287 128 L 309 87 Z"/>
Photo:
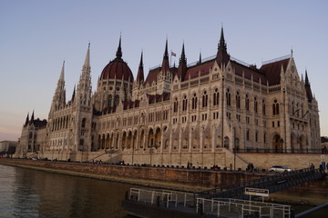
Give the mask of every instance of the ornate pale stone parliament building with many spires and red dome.
<path id="1" fill-rule="evenodd" d="M 216 55 L 179 66 L 162 64 L 137 78 L 114 60 L 91 92 L 90 48 L 77 89 L 66 98 L 65 64 L 46 121 L 26 118 L 17 156 L 38 153 L 60 160 L 209 166 L 234 152 L 321 152 L 318 103 L 308 74 L 300 77 L 292 55 L 260 68 L 232 58 L 221 29 Z"/>

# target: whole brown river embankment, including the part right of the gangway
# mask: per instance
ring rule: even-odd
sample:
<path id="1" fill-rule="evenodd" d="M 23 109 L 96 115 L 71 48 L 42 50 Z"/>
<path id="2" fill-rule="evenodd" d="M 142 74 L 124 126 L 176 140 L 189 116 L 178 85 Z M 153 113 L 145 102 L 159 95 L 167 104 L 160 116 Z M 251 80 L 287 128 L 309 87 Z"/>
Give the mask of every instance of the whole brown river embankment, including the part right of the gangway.
<path id="1" fill-rule="evenodd" d="M 177 167 L 34 161 L 10 158 L 0 158 L 0 164 L 182 192 L 198 192 L 224 184 L 240 183 L 268 175 L 268 173 L 230 170 L 213 171 Z M 325 179 L 320 181 L 303 183 L 278 193 L 271 193 L 270 199 L 284 203 L 325 203 L 328 199 L 328 177 L 326 176 Z"/>

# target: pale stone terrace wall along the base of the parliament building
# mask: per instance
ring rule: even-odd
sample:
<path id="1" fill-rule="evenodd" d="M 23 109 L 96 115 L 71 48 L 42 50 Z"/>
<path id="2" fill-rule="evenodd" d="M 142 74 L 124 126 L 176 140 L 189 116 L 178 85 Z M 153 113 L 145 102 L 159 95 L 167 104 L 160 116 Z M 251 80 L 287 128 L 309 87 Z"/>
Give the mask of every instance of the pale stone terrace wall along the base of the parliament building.
<path id="1" fill-rule="evenodd" d="M 328 154 L 233 154 L 227 149 L 220 149 L 219 152 L 214 153 L 157 153 L 149 154 L 149 152 L 143 151 L 118 151 L 115 153 L 105 152 L 89 152 L 89 153 L 43 153 L 39 154 L 39 157 L 46 157 L 49 160 L 75 160 L 78 162 L 86 161 L 99 161 L 116 163 L 118 161 L 124 161 L 129 164 L 148 164 L 148 165 L 164 165 L 164 166 L 184 166 L 187 167 L 188 163 L 192 163 L 196 168 L 207 167 L 210 168 L 213 165 L 220 166 L 221 169 L 227 167 L 230 169 L 241 168 L 245 170 L 247 163 L 253 163 L 255 167 L 260 170 L 268 170 L 272 165 L 284 165 L 298 170 L 307 168 L 311 163 L 319 168 L 324 156 L 325 161 L 328 162 Z"/>

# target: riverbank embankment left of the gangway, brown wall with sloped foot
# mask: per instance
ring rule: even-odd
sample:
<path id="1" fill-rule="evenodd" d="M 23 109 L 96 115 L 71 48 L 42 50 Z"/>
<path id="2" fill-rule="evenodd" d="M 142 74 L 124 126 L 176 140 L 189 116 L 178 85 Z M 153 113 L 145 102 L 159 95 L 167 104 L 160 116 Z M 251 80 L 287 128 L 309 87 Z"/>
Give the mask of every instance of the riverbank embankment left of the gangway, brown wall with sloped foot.
<path id="1" fill-rule="evenodd" d="M 229 183 L 239 183 L 267 175 L 240 171 L 212 171 L 172 167 L 72 163 L 2 158 L 0 163 L 27 169 L 82 176 L 118 183 L 131 183 L 154 188 L 198 192 Z"/>

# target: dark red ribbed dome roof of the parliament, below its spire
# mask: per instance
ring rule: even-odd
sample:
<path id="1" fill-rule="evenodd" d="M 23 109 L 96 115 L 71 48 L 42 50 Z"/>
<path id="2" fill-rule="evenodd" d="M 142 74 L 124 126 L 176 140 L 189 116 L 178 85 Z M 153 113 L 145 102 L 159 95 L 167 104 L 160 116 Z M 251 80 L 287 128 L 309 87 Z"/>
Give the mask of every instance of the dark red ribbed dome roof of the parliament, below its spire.
<path id="1" fill-rule="evenodd" d="M 123 76 L 124 81 L 133 82 L 133 74 L 128 67 L 128 64 L 121 58 L 115 58 L 109 62 L 100 75 L 100 80 L 115 79 L 121 80 Z"/>

